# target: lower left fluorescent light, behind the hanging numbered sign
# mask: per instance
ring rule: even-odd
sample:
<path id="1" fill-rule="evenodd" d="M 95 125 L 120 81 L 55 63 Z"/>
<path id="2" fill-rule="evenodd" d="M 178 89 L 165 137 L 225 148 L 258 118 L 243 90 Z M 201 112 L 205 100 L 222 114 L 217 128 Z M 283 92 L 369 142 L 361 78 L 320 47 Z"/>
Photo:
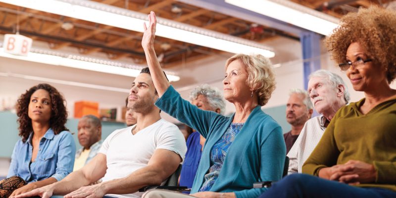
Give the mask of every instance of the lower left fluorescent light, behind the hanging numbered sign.
<path id="1" fill-rule="evenodd" d="M 44 49 L 31 49 L 27 56 L 18 56 L 4 52 L 0 48 L 0 56 L 18 60 L 26 60 L 50 65 L 73 67 L 103 73 L 110 73 L 122 76 L 137 77 L 142 67 L 128 65 L 120 62 L 103 60 L 98 58 L 80 56 L 75 54 L 65 54 Z M 170 82 L 180 80 L 179 76 L 165 72 Z"/>

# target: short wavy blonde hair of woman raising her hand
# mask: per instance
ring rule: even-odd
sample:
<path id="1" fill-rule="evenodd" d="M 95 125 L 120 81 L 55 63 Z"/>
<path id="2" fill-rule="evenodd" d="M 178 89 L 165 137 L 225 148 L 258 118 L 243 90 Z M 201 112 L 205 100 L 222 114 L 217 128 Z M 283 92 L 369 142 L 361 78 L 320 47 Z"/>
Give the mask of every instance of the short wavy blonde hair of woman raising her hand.
<path id="1" fill-rule="evenodd" d="M 275 72 L 271 61 L 260 55 L 235 54 L 226 61 L 226 69 L 234 60 L 241 60 L 246 66 L 247 85 L 258 95 L 258 104 L 264 106 L 275 90 Z"/>

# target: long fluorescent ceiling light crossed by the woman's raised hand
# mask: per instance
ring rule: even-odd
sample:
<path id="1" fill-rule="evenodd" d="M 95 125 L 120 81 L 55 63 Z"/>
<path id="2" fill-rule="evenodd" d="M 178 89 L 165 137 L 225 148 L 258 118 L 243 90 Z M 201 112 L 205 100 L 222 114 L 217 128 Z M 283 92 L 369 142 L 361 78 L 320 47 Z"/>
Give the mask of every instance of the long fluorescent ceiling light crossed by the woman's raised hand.
<path id="1" fill-rule="evenodd" d="M 0 0 L 0 2 L 143 32 L 147 14 L 91 0 Z M 273 49 L 257 42 L 157 17 L 156 35 L 231 53 L 274 57 Z"/>

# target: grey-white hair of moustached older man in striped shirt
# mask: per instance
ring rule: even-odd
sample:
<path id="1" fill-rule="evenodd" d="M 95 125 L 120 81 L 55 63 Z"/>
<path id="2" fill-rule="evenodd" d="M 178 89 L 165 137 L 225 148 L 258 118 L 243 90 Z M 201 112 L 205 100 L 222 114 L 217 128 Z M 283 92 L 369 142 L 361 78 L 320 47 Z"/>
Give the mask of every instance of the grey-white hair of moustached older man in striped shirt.
<path id="1" fill-rule="evenodd" d="M 317 70 L 308 76 L 308 80 L 311 80 L 313 77 L 318 77 L 318 78 L 327 78 L 328 82 L 330 85 L 332 85 L 334 88 L 338 88 L 339 85 L 343 85 L 345 90 L 344 90 L 344 99 L 345 103 L 348 103 L 350 100 L 349 92 L 348 92 L 348 87 L 345 84 L 344 80 L 341 78 L 341 76 L 328 71 L 324 69 Z"/>

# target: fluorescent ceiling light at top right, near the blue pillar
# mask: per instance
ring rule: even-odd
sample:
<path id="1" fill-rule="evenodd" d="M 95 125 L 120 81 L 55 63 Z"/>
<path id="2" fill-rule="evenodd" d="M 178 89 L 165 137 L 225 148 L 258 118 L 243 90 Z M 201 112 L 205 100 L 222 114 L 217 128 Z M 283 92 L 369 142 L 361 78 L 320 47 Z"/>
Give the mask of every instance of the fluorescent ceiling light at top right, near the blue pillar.
<path id="1" fill-rule="evenodd" d="M 257 12 L 295 26 L 329 36 L 339 19 L 290 0 L 225 0 L 227 3 Z"/>

